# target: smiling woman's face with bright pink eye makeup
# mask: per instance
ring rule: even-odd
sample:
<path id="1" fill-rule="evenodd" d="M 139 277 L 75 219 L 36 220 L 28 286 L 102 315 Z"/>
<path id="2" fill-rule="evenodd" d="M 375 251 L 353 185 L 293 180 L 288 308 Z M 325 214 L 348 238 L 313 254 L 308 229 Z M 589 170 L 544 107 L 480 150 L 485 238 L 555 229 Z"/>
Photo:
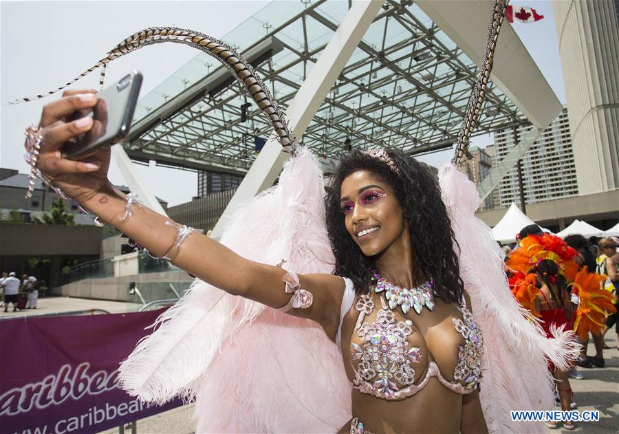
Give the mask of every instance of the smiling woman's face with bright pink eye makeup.
<path id="1" fill-rule="evenodd" d="M 356 171 L 342 182 L 340 209 L 346 230 L 366 256 L 383 252 L 408 237 L 404 213 L 391 186 L 369 171 Z"/>

